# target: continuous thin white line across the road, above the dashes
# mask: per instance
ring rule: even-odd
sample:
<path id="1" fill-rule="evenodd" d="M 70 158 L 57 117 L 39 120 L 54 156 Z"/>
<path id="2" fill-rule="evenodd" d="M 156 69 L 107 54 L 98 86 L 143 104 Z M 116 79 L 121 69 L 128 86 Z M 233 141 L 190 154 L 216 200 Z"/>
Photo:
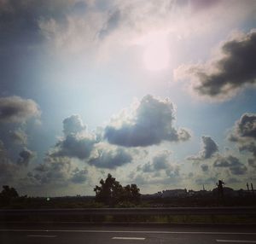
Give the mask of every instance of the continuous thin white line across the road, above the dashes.
<path id="1" fill-rule="evenodd" d="M 77 232 L 77 233 L 139 233 L 139 234 L 195 234 L 195 235 L 256 235 L 256 232 L 214 231 L 149 231 L 149 230 L 102 230 L 102 229 L 0 229 L 12 232 Z"/>

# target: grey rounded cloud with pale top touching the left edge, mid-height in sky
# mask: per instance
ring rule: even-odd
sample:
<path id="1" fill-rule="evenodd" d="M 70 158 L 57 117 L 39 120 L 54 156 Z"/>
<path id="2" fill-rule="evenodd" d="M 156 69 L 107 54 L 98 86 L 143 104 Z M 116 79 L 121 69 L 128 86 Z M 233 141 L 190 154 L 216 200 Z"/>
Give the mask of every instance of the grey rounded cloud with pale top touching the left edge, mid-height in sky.
<path id="1" fill-rule="evenodd" d="M 20 96 L 0 97 L 0 122 L 25 123 L 28 119 L 39 118 L 38 104 Z"/>

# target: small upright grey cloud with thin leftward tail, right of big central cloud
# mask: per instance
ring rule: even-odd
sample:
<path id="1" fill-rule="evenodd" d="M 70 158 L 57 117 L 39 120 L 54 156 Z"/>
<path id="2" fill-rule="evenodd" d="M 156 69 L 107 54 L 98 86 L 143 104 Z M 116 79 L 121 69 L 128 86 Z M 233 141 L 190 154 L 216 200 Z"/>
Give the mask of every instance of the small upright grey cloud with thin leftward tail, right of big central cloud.
<path id="1" fill-rule="evenodd" d="M 218 152 L 218 145 L 211 137 L 201 137 L 201 151 L 199 155 L 189 156 L 187 160 L 208 160 Z"/>

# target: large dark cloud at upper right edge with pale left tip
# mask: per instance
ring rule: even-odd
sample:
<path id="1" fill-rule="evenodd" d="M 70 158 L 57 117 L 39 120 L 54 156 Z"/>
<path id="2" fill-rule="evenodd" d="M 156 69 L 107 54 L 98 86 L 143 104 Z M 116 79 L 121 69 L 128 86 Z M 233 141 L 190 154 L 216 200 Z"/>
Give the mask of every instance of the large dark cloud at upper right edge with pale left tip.
<path id="1" fill-rule="evenodd" d="M 200 96 L 227 100 L 249 84 L 256 83 L 256 31 L 237 35 L 224 42 L 218 60 L 204 65 L 178 67 L 177 79 L 192 77 L 192 87 Z"/>

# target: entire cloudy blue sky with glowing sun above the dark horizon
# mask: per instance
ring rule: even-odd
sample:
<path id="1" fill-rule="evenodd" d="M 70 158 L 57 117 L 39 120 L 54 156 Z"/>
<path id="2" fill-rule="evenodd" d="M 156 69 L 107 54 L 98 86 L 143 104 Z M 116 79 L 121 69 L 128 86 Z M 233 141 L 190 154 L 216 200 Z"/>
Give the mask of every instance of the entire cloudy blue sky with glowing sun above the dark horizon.
<path id="1" fill-rule="evenodd" d="M 256 187 L 256 2 L 0 0 L 0 185 Z"/>

